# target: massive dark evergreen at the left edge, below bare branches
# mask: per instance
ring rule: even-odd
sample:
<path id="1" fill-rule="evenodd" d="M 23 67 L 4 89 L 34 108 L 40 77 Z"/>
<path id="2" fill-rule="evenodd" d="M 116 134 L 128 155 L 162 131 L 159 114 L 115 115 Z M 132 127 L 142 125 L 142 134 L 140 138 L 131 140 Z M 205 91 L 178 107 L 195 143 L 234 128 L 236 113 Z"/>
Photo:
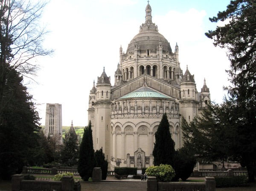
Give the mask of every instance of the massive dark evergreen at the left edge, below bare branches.
<path id="1" fill-rule="evenodd" d="M 36 164 L 39 147 L 39 116 L 32 96 L 22 85 L 23 78 L 11 69 L 6 75 L 6 88 L 0 123 L 0 178 L 10 179 L 23 166 Z M 10 79 L 10 80 L 9 80 Z"/>

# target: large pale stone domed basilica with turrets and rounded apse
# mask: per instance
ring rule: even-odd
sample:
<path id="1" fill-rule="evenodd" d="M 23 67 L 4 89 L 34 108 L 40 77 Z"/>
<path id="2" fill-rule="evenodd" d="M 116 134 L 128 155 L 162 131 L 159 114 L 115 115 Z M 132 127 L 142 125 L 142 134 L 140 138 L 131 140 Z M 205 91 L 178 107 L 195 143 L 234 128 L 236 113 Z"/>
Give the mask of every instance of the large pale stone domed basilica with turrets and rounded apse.
<path id="1" fill-rule="evenodd" d="M 180 66 L 177 43 L 172 50 L 158 32 L 149 4 L 140 32 L 126 52 L 119 48 L 114 79 L 111 85 L 104 68 L 93 82 L 88 108 L 94 150 L 103 149 L 109 170 L 153 165 L 154 134 L 164 113 L 175 149 L 182 147 L 181 116 L 191 121 L 210 101 L 205 80 L 198 92 L 188 66 Z"/>

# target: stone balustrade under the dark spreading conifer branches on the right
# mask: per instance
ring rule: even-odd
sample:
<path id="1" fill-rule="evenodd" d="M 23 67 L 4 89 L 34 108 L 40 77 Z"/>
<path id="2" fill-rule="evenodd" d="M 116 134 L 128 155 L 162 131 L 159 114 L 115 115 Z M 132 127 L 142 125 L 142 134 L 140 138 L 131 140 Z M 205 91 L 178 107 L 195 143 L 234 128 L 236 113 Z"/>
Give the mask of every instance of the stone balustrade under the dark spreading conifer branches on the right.
<path id="1" fill-rule="evenodd" d="M 247 171 L 233 171 L 228 169 L 227 171 L 193 171 L 193 177 L 233 177 L 233 176 L 248 176 Z"/>

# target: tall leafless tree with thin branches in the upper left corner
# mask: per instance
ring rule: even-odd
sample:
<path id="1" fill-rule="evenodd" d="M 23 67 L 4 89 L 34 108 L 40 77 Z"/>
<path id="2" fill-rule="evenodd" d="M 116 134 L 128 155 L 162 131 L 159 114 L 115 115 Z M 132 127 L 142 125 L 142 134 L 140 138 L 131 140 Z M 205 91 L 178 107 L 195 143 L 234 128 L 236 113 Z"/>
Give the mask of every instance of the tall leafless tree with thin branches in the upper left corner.
<path id="1" fill-rule="evenodd" d="M 46 4 L 45 1 L 0 0 L 0 124 L 3 108 L 14 91 L 6 85 L 6 81 L 12 81 L 9 72 L 15 70 L 21 76 L 30 77 L 38 70 L 35 58 L 53 52 L 42 46 L 47 30 L 41 26 L 40 19 Z"/>

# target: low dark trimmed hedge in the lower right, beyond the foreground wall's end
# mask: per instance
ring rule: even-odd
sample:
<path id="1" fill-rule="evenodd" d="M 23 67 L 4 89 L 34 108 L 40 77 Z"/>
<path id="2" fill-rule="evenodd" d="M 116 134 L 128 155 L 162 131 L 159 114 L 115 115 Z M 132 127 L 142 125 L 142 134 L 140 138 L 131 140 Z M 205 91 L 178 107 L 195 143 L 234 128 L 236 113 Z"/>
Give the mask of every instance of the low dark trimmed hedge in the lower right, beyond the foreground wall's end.
<path id="1" fill-rule="evenodd" d="M 246 176 L 214 178 L 216 181 L 216 188 L 239 187 L 244 186 L 248 182 L 248 178 Z"/>

